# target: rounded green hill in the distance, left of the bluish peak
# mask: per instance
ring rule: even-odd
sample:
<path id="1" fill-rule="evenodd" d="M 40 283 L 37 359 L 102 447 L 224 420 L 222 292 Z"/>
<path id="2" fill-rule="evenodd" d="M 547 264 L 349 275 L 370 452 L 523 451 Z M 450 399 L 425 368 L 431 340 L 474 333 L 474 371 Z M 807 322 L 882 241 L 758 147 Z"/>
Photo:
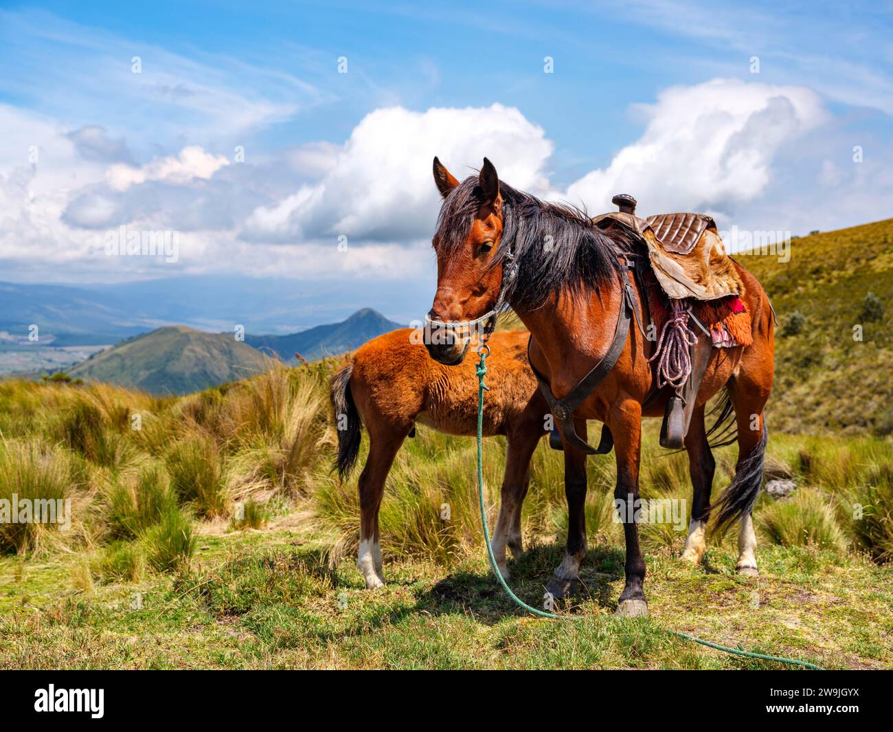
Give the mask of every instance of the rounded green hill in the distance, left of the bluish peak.
<path id="1" fill-rule="evenodd" d="M 268 360 L 228 333 L 184 325 L 130 338 L 71 368 L 72 377 L 154 394 L 187 394 L 265 371 Z"/>

